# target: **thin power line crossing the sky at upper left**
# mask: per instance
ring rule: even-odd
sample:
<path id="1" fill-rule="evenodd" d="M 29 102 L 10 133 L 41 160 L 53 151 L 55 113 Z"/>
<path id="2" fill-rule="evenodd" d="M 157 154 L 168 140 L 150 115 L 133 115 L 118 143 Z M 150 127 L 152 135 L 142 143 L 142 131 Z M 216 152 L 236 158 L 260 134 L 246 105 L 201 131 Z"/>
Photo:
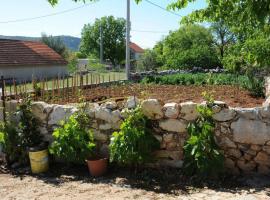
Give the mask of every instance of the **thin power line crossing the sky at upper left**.
<path id="1" fill-rule="evenodd" d="M 90 5 L 94 4 L 94 3 L 97 3 L 97 2 L 92 2 L 92 3 L 84 4 L 84 5 L 79 6 L 79 7 L 63 10 L 61 12 L 51 13 L 51 14 L 47 14 L 47 15 L 41 15 L 41 16 L 37 16 L 37 17 L 29 17 L 29 18 L 24 18 L 24 19 L 14 19 L 14 20 L 8 20 L 8 21 L 0 21 L 0 24 L 9 24 L 9 23 L 32 21 L 32 20 L 42 19 L 42 18 L 46 18 L 46 17 L 52 17 L 52 16 L 56 16 L 56 15 L 61 15 L 61 14 L 64 14 L 64 13 L 79 10 L 81 8 L 85 8 L 85 7 L 90 6 Z"/>

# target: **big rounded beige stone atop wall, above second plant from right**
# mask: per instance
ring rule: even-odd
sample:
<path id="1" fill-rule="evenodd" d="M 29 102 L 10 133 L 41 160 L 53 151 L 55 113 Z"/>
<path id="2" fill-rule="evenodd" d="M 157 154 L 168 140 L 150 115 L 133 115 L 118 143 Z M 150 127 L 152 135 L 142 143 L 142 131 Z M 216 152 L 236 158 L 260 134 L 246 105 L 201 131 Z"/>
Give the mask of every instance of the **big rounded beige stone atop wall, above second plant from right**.
<path id="1" fill-rule="evenodd" d="M 161 119 L 164 116 L 162 106 L 157 99 L 144 100 L 141 106 L 142 112 L 149 119 Z"/>

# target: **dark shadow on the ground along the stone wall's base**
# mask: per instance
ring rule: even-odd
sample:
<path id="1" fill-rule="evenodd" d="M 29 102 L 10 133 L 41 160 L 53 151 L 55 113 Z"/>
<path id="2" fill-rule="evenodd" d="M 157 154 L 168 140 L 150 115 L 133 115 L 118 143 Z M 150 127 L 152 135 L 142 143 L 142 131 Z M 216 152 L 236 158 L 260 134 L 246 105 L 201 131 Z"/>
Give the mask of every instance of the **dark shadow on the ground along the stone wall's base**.
<path id="1" fill-rule="evenodd" d="M 14 176 L 33 176 L 44 181 L 46 184 L 59 186 L 65 182 L 78 181 L 92 184 L 117 185 L 126 188 L 143 189 L 164 194 L 189 194 L 203 189 L 215 191 L 240 193 L 245 191 L 252 194 L 266 191 L 270 196 L 270 176 L 231 176 L 224 175 L 222 178 L 199 182 L 196 177 L 186 177 L 181 170 L 177 169 L 141 169 L 137 173 L 134 170 L 110 166 L 104 177 L 93 178 L 89 175 L 86 166 L 54 164 L 49 172 L 32 175 L 30 173 L 18 173 L 11 171 Z"/>

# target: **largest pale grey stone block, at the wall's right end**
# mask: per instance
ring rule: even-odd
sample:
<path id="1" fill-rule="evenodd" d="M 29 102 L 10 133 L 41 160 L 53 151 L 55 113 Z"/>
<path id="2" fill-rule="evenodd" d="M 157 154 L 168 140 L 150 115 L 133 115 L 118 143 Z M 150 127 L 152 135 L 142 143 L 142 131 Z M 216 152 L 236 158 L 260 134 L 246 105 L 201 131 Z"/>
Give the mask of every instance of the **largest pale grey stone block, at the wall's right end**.
<path id="1" fill-rule="evenodd" d="M 262 121 L 238 119 L 231 125 L 235 142 L 263 145 L 270 140 L 270 126 Z"/>

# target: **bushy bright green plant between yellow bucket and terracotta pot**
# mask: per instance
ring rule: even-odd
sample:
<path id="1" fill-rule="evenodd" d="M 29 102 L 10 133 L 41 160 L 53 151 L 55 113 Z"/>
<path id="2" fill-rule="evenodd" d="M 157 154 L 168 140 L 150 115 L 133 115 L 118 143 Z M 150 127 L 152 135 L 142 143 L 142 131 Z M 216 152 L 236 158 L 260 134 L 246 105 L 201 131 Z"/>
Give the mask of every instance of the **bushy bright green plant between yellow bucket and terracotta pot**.
<path id="1" fill-rule="evenodd" d="M 83 164 L 94 156 L 93 133 L 87 128 L 89 117 L 80 110 L 53 132 L 50 153 L 68 163 Z"/>

